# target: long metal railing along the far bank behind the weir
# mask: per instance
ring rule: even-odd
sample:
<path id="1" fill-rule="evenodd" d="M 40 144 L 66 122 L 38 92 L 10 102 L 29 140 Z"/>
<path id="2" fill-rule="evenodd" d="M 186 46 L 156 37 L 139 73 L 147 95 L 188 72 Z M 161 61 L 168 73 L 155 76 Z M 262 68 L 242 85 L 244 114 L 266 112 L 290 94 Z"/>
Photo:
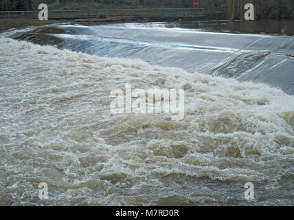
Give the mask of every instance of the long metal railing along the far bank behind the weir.
<path id="1" fill-rule="evenodd" d="M 39 11 L 0 12 L 0 19 L 38 18 Z M 106 16 L 144 16 L 144 17 L 202 17 L 204 8 L 156 8 L 156 9 L 113 9 L 113 10 L 49 10 L 49 19 L 89 18 Z"/>

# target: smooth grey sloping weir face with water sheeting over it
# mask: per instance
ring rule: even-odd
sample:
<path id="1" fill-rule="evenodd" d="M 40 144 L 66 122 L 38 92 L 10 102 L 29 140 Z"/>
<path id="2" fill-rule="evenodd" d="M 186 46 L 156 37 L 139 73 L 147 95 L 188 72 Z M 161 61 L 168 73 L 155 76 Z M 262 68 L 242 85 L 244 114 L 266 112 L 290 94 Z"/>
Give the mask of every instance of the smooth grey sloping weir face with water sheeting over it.
<path id="1" fill-rule="evenodd" d="M 41 28 L 35 31 L 37 34 L 16 34 L 14 39 L 40 43 L 41 37 L 50 36 L 60 49 L 140 59 L 152 65 L 180 67 L 190 73 L 267 83 L 294 94 L 291 36 L 180 30 L 166 28 L 164 23 L 57 27 L 58 30 Z"/>

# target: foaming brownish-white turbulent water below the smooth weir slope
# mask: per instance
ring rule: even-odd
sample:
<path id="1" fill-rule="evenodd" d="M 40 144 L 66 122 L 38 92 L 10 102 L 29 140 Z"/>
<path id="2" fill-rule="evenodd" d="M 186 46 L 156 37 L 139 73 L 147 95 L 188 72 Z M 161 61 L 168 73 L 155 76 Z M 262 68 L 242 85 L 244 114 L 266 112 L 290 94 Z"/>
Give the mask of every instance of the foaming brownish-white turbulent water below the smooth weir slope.
<path id="1" fill-rule="evenodd" d="M 294 97 L 0 39 L 0 205 L 293 205 Z M 113 115 L 111 89 L 184 88 L 185 118 Z M 38 199 L 38 184 L 49 199 Z"/>

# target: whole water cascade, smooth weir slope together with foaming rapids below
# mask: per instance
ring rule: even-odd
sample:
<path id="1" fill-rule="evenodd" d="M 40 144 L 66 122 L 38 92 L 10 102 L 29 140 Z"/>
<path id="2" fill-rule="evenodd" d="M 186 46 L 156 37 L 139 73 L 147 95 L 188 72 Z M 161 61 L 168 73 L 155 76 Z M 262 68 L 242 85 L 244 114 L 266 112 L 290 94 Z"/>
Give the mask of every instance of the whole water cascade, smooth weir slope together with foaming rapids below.
<path id="1" fill-rule="evenodd" d="M 293 206 L 293 41 L 158 24 L 2 33 L 0 205 Z M 111 114 L 125 83 L 185 89 L 185 118 Z"/>

